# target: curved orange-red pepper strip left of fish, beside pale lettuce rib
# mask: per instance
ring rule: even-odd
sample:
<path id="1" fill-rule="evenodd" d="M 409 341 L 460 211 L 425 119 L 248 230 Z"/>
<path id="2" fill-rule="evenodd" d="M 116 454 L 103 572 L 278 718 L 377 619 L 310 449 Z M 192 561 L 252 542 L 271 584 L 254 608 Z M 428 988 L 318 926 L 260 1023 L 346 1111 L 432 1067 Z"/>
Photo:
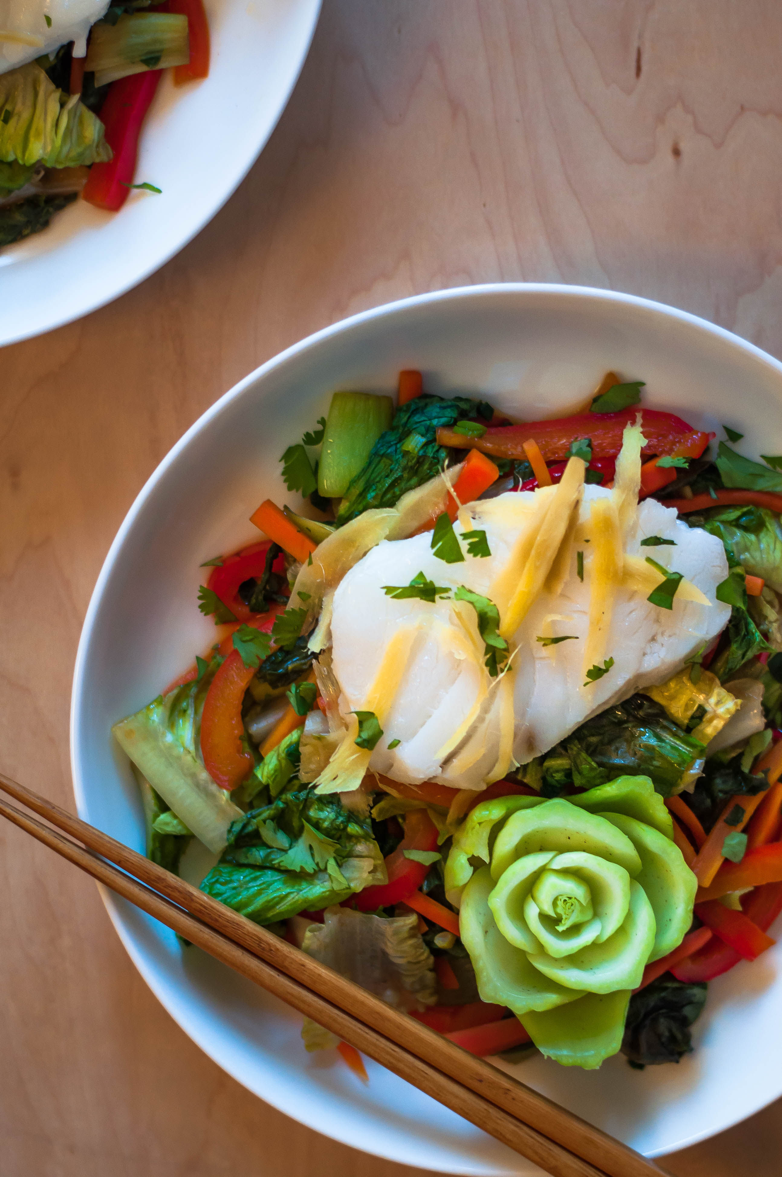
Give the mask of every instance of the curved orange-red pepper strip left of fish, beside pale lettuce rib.
<path id="1" fill-rule="evenodd" d="M 201 714 L 204 767 L 220 789 L 236 789 L 254 766 L 241 745 L 241 700 L 256 673 L 234 650 L 212 679 Z"/>

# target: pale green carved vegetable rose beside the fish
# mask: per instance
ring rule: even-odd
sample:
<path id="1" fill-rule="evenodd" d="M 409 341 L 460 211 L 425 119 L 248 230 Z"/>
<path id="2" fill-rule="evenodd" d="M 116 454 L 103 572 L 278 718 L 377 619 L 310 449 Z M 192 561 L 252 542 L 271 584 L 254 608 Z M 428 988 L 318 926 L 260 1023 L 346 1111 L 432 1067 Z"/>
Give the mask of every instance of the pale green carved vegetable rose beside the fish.
<path id="1" fill-rule="evenodd" d="M 688 932 L 697 884 L 651 780 L 621 777 L 477 805 L 445 885 L 483 1000 L 508 1005 L 544 1055 L 595 1068 L 621 1046 L 645 965 Z"/>

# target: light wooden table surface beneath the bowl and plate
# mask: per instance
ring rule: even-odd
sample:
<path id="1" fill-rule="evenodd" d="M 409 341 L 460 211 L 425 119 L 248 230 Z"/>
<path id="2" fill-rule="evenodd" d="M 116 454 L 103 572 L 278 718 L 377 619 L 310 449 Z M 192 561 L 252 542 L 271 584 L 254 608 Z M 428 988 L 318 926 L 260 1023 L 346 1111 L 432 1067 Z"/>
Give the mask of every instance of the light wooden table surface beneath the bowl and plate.
<path id="1" fill-rule="evenodd" d="M 183 431 L 310 332 L 420 291 L 564 281 L 782 355 L 781 61 L 778 0 L 325 0 L 214 221 L 117 302 L 2 353 L 2 769 L 72 804 L 71 674 L 114 532 Z M 5 825 L 0 846 L 2 1177 L 400 1175 L 225 1076 L 93 885 Z M 777 1177 L 781 1146 L 777 1104 L 667 1164 Z"/>

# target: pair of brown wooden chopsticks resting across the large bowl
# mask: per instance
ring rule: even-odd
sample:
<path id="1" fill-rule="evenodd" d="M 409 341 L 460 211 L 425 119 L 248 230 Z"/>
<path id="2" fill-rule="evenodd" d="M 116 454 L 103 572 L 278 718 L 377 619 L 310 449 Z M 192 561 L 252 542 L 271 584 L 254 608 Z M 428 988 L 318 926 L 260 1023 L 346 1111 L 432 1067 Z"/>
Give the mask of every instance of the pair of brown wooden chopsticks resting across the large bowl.
<path id="1" fill-rule="evenodd" d="M 0 789 L 69 837 L 4 800 L 0 816 L 552 1177 L 662 1173 L 614 1137 L 1 773 Z"/>

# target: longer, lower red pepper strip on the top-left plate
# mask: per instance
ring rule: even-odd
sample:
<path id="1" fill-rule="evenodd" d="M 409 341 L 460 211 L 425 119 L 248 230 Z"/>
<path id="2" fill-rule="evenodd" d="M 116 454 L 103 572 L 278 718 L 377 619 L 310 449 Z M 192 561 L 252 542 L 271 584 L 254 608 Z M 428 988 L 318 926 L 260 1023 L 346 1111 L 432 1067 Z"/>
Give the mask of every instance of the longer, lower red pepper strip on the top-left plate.
<path id="1" fill-rule="evenodd" d="M 139 132 L 160 81 L 161 69 L 120 78 L 111 85 L 100 119 L 106 142 L 114 153 L 108 164 L 93 164 L 81 199 L 107 212 L 117 212 L 127 200 L 139 154 Z"/>

